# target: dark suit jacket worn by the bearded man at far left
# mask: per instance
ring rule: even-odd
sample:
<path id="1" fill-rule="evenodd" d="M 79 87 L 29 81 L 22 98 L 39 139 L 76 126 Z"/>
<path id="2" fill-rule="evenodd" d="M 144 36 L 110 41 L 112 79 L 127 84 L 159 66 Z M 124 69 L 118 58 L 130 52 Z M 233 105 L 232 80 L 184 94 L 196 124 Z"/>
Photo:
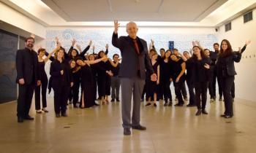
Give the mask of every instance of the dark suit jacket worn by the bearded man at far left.
<path id="1" fill-rule="evenodd" d="M 17 83 L 19 79 L 23 78 L 25 85 L 37 84 L 37 80 L 40 79 L 37 52 L 28 48 L 18 50 L 16 53 L 16 69 Z"/>

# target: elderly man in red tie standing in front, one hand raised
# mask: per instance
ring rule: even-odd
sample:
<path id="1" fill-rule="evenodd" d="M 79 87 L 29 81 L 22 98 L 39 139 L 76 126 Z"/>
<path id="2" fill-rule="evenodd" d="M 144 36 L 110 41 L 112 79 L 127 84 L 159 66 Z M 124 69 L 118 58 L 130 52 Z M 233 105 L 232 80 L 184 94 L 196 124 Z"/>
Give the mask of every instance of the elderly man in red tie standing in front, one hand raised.
<path id="1" fill-rule="evenodd" d="M 146 130 L 146 127 L 140 125 L 140 97 L 145 84 L 146 71 L 151 74 L 152 81 L 157 81 L 157 74 L 154 73 L 149 60 L 146 41 L 137 36 L 138 26 L 136 23 L 128 23 L 126 28 L 129 36 L 120 36 L 119 38 L 117 20 L 114 21 L 114 25 L 112 44 L 121 51 L 122 57 L 118 76 L 121 77 L 121 112 L 124 135 L 130 135 L 130 127 L 136 130 Z"/>

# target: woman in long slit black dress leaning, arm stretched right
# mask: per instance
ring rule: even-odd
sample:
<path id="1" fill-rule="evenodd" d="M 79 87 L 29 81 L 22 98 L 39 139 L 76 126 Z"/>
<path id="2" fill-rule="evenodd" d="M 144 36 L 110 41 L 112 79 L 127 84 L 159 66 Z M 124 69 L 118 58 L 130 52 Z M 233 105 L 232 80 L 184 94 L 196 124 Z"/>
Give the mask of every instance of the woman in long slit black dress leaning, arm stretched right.
<path id="1" fill-rule="evenodd" d="M 94 77 L 91 71 L 91 64 L 99 63 L 102 60 L 108 59 L 106 56 L 97 60 L 83 60 L 83 58 L 76 58 L 76 63 L 80 66 L 81 82 L 82 82 L 82 95 L 80 108 L 89 108 L 97 105 L 94 98 Z"/>

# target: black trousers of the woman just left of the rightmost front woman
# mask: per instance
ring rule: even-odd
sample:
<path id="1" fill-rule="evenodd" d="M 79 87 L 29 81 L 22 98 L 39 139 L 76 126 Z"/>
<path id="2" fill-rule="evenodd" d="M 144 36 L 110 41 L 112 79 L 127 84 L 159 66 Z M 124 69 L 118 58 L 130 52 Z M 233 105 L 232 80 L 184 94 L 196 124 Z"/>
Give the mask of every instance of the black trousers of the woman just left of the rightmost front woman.
<path id="1" fill-rule="evenodd" d="M 194 85 L 195 103 L 197 103 L 197 109 L 206 109 L 208 82 L 194 82 Z"/>

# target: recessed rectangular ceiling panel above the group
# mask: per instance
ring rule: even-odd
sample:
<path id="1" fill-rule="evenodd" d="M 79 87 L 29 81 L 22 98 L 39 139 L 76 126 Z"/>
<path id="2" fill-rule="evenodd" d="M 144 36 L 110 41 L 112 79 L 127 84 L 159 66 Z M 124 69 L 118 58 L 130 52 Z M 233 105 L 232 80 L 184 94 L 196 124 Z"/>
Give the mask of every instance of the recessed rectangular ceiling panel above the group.
<path id="1" fill-rule="evenodd" d="M 227 0 L 42 0 L 67 22 L 199 22 Z"/>

